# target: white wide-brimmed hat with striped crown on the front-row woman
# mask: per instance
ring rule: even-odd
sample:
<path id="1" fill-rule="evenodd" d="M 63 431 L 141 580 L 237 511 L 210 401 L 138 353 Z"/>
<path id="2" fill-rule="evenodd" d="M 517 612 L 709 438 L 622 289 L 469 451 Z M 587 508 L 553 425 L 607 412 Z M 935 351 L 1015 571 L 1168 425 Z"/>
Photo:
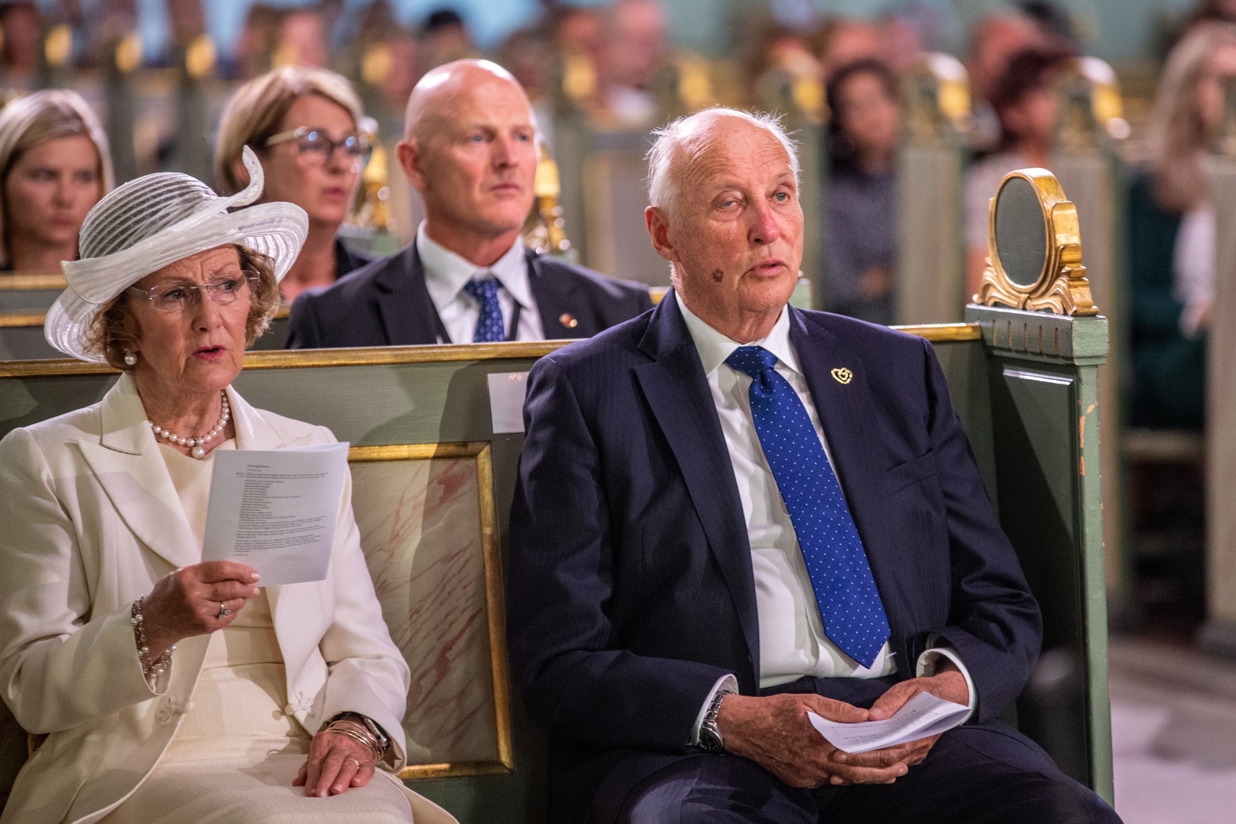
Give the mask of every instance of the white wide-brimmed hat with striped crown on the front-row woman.
<path id="1" fill-rule="evenodd" d="M 248 185 L 220 198 L 201 180 L 159 172 L 130 180 L 94 205 L 82 224 L 79 259 L 61 268 L 69 288 L 47 313 L 43 335 L 66 355 L 101 363 L 87 332 L 95 316 L 121 292 L 151 272 L 198 252 L 236 243 L 274 262 L 282 280 L 300 253 L 309 216 L 290 203 L 248 204 L 262 194 L 262 164 L 242 152 Z M 248 206 L 229 212 L 235 206 Z"/>

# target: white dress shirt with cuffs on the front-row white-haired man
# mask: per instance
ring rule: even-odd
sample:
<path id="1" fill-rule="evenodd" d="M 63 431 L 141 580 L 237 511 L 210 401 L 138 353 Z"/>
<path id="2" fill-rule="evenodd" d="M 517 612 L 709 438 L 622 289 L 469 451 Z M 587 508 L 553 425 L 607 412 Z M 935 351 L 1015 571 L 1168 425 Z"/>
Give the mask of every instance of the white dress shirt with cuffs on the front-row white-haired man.
<path id="1" fill-rule="evenodd" d="M 895 673 L 897 665 L 892 660 L 894 652 L 887 641 L 871 666 L 864 667 L 824 634 L 811 577 L 807 574 L 807 565 L 798 546 L 798 536 L 772 477 L 772 469 L 764 457 L 759 434 L 751 419 L 748 395 L 751 378 L 726 363 L 726 358 L 744 343 L 730 340 L 700 320 L 687 309 L 677 293 L 675 299 L 703 364 L 713 404 L 717 406 L 717 416 L 721 420 L 721 430 L 726 437 L 726 447 L 729 450 L 734 479 L 738 482 L 738 495 L 743 503 L 747 536 L 751 547 L 755 607 L 760 628 L 760 687 L 789 683 L 803 676 L 878 678 Z M 745 346 L 761 346 L 776 356 L 777 362 L 774 368 L 798 395 L 816 430 L 816 437 L 819 439 L 824 455 L 836 471 L 836 462 L 819 424 L 819 413 L 798 367 L 798 357 L 790 343 L 789 311 L 781 310 L 781 316 L 764 340 Z M 916 662 L 916 675 L 934 672 L 941 655 L 954 661 L 962 670 L 970 689 L 973 712 L 974 686 L 960 657 L 952 650 L 933 647 L 923 652 Z M 713 696 L 722 688 L 737 692 L 738 682 L 733 676 L 724 676 L 717 682 L 713 693 L 701 708 L 696 724 L 697 733 L 698 721 L 703 720 Z"/>

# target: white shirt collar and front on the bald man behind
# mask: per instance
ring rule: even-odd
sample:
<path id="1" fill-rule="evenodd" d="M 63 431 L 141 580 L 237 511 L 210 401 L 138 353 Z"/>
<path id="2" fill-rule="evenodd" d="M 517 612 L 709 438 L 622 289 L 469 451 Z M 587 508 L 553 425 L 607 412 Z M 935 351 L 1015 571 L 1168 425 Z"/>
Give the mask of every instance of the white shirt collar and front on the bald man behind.
<path id="1" fill-rule="evenodd" d="M 429 299 L 434 301 L 438 316 L 442 319 L 446 334 L 451 336 L 450 342 L 471 343 L 476 335 L 476 320 L 481 314 L 481 305 L 472 295 L 464 292 L 464 285 L 472 279 L 494 279 L 502 285 L 498 289 L 498 305 L 502 306 L 502 321 L 508 337 L 510 337 L 510 319 L 514 317 L 518 303 L 519 327 L 515 330 L 514 340 L 545 340 L 536 301 L 528 283 L 528 261 L 522 237 L 517 236 L 515 242 L 494 261 L 493 266 L 477 266 L 431 238 L 425 232 L 425 221 L 421 221 L 417 230 L 417 254 L 420 256 L 420 266 L 425 269 Z"/>

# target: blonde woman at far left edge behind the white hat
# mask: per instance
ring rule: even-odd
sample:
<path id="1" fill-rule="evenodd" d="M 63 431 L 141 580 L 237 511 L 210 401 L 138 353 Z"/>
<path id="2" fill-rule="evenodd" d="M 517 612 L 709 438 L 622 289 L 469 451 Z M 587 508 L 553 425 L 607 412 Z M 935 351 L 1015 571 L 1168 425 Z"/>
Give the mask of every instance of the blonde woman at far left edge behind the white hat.
<path id="1" fill-rule="evenodd" d="M 0 268 L 59 272 L 78 230 L 111 190 L 108 137 L 74 91 L 51 89 L 0 111 Z"/>

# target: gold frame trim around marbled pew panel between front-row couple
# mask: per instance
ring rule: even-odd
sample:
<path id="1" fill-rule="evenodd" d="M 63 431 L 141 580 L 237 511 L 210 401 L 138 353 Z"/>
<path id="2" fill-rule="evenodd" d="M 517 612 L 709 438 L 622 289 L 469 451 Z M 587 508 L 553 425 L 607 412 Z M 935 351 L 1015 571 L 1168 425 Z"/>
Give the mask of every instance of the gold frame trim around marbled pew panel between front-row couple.
<path id="1" fill-rule="evenodd" d="M 485 609 L 489 630 L 489 671 L 493 678 L 493 710 L 497 721 L 498 760 L 412 765 L 399 771 L 405 780 L 485 776 L 515 768 L 510 733 L 510 691 L 507 667 L 507 607 L 502 586 L 502 544 L 498 507 L 493 498 L 493 456 L 487 441 L 455 444 L 397 444 L 353 446 L 349 462 L 425 461 L 433 458 L 476 458 L 477 507 L 481 520 L 481 557 L 485 565 Z"/>

